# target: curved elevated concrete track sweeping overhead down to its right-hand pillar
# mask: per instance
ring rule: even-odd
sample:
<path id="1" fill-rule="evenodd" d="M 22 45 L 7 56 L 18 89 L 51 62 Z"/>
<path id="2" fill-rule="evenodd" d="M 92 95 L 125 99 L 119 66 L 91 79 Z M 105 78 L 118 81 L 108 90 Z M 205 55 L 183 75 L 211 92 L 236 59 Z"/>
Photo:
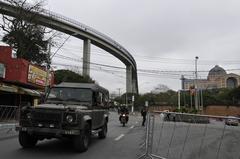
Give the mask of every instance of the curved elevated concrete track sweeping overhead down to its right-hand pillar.
<path id="1" fill-rule="evenodd" d="M 60 14 L 48 10 L 43 10 L 43 12 L 41 13 L 36 13 L 32 11 L 29 12 L 0 0 L 0 13 L 12 17 L 17 17 L 19 11 L 21 11 L 21 14 L 25 15 L 24 18 L 26 21 L 30 21 L 31 19 L 32 23 L 37 23 L 39 25 L 43 25 L 64 32 L 76 38 L 82 39 L 84 40 L 84 45 L 86 44 L 88 46 L 91 43 L 118 58 L 126 65 L 127 92 L 138 93 L 136 62 L 132 55 L 119 43 L 91 27 L 88 27 L 80 22 L 62 16 Z M 34 18 L 31 18 L 33 16 Z M 87 61 L 88 60 L 90 60 L 90 57 L 87 59 Z M 85 63 L 85 65 L 89 64 Z M 86 67 L 89 68 L 89 66 Z"/>

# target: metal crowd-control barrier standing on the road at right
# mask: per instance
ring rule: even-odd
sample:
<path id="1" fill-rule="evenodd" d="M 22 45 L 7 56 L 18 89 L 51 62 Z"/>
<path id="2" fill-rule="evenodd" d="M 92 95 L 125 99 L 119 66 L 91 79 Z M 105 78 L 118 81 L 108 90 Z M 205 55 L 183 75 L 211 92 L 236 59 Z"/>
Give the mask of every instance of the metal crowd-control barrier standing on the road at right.
<path id="1" fill-rule="evenodd" d="M 240 118 L 149 113 L 145 153 L 139 158 L 239 159 Z"/>

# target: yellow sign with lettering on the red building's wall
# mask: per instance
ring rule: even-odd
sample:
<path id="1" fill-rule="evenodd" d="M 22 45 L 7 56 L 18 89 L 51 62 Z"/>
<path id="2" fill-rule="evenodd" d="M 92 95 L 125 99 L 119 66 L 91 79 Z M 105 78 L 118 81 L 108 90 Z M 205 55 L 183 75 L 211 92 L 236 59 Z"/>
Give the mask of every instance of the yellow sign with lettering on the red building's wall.
<path id="1" fill-rule="evenodd" d="M 34 83 L 40 86 L 46 86 L 46 78 L 47 72 L 35 67 L 33 65 L 29 65 L 28 68 L 28 82 Z"/>

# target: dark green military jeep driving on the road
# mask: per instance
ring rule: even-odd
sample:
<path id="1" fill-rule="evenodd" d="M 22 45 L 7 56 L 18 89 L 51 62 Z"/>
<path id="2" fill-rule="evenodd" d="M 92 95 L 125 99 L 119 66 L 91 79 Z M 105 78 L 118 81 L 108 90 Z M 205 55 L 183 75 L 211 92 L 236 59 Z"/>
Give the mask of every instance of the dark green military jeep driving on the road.
<path id="1" fill-rule="evenodd" d="M 52 87 L 44 104 L 22 107 L 20 145 L 30 148 L 39 140 L 69 138 L 77 151 L 86 151 L 93 133 L 106 137 L 108 97 L 97 84 L 64 82 Z"/>

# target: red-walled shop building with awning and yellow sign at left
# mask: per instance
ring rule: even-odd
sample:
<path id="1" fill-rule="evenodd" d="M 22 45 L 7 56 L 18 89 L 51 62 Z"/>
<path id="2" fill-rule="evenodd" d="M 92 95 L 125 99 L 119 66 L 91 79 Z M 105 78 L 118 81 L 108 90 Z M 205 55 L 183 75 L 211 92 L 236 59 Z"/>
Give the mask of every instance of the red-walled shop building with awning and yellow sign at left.
<path id="1" fill-rule="evenodd" d="M 0 105 L 36 104 L 45 87 L 54 84 L 53 73 L 31 62 L 13 58 L 12 48 L 0 46 Z"/>

